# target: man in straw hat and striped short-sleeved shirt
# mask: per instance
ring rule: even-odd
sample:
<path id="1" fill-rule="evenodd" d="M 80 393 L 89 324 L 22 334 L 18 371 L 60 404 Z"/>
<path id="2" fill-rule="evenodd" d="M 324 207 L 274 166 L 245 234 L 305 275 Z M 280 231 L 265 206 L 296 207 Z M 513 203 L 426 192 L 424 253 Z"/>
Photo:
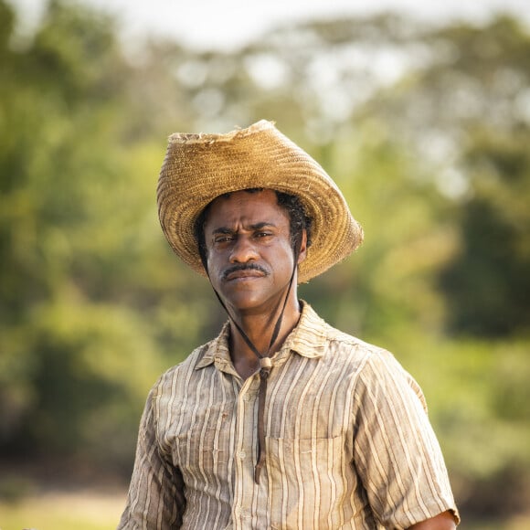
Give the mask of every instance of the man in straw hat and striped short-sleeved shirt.
<path id="1" fill-rule="evenodd" d="M 119 528 L 454 528 L 418 385 L 297 298 L 363 238 L 323 168 L 270 122 L 174 134 L 158 205 L 229 319 L 153 387 Z"/>

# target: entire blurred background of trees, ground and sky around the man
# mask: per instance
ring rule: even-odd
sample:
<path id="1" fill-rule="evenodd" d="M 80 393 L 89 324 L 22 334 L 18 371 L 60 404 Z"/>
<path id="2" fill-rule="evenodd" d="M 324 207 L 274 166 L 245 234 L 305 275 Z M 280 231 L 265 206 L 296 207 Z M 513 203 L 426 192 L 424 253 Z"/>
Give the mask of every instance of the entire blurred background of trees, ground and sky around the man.
<path id="1" fill-rule="evenodd" d="M 261 118 L 366 232 L 302 298 L 418 379 L 462 527 L 530 527 L 530 8 L 364 4 L 0 0 L 2 530 L 117 525 L 149 388 L 225 319 L 166 137 Z"/>

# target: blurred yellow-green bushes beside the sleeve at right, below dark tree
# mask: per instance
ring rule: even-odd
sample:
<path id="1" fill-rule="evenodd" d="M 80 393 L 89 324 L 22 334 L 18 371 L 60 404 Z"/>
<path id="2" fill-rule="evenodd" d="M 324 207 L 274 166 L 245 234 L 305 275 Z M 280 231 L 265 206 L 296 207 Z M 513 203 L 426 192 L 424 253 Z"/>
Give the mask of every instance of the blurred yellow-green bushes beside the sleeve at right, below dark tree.
<path id="1" fill-rule="evenodd" d="M 437 341 L 420 331 L 409 329 L 391 342 L 425 391 L 462 509 L 486 520 L 524 511 L 530 488 L 530 342 Z"/>

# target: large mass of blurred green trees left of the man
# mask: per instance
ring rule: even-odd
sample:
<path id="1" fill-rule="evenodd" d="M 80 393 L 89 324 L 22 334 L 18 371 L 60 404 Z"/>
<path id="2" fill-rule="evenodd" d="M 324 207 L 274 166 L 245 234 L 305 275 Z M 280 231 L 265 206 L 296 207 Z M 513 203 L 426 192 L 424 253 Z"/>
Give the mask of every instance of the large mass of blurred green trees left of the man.
<path id="1" fill-rule="evenodd" d="M 53 1 L 28 47 L 3 37 L 0 446 L 128 468 L 148 387 L 200 327 L 154 211 L 163 146 L 110 19 Z"/>

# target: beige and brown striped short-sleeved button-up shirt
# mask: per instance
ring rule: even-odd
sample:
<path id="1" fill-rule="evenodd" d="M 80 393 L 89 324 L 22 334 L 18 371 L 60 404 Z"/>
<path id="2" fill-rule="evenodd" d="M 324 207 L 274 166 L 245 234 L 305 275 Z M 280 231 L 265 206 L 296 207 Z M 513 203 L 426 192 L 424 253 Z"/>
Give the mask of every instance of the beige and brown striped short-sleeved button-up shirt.
<path id="1" fill-rule="evenodd" d="M 272 358 L 266 461 L 257 459 L 258 374 L 241 379 L 229 326 L 168 370 L 143 412 L 119 529 L 407 528 L 451 510 L 418 384 L 387 351 L 304 303 Z"/>

